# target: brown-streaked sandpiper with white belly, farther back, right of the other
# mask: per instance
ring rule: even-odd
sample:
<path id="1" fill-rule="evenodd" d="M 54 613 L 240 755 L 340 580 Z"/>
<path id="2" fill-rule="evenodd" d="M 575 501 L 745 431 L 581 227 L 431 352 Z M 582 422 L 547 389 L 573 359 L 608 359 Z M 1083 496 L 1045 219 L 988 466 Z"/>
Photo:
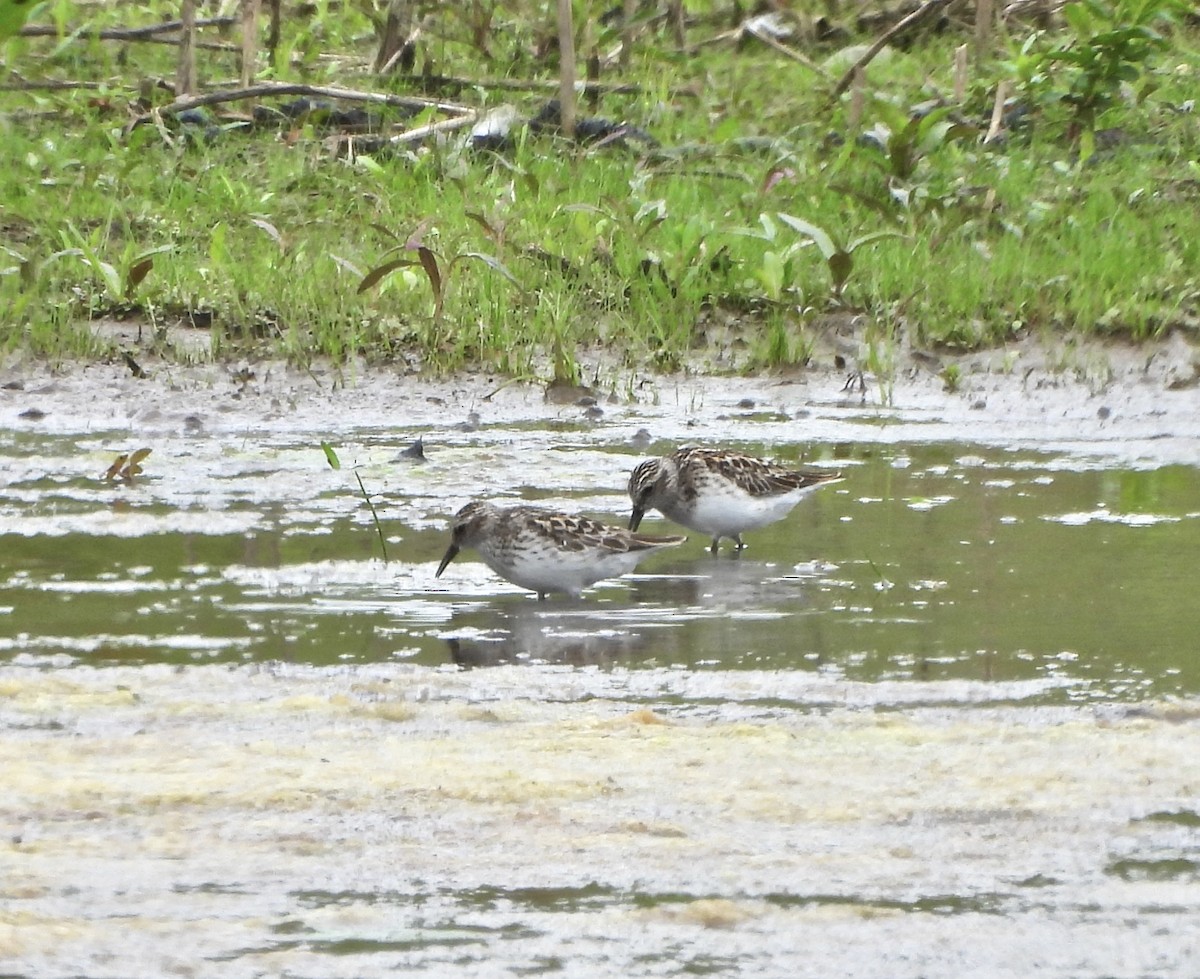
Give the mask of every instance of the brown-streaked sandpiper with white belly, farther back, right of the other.
<path id="1" fill-rule="evenodd" d="M 629 529 L 638 528 L 647 510 L 659 510 L 710 534 L 714 554 L 721 537 L 731 537 L 740 551 L 743 530 L 782 519 L 808 491 L 841 478 L 828 469 L 788 469 L 739 452 L 689 446 L 634 469 Z"/>

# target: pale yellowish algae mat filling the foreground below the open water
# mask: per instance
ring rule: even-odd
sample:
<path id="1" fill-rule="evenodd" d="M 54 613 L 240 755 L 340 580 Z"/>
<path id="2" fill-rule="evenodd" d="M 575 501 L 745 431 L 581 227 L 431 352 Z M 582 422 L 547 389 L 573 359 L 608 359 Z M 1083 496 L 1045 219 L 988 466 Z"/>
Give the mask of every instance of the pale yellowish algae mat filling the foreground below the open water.
<path id="1" fill-rule="evenodd" d="M 2 667 L 0 965 L 1193 974 L 1200 704 L 779 680 Z"/>

